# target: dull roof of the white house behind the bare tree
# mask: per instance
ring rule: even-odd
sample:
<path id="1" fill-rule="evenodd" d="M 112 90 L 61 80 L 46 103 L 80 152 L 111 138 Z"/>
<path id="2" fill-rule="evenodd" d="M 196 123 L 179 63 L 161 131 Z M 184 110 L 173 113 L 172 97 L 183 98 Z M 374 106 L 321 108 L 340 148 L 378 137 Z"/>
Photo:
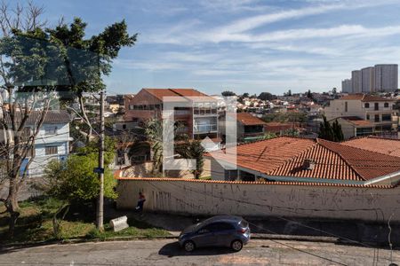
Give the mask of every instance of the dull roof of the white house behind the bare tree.
<path id="1" fill-rule="evenodd" d="M 17 123 L 20 123 L 23 115 L 20 112 L 17 112 L 15 116 L 16 116 Z M 33 111 L 32 113 L 30 113 L 26 124 L 27 125 L 36 124 L 37 122 L 39 122 L 39 119 L 41 118 L 41 116 L 42 116 L 42 112 Z M 8 125 L 11 125 L 10 113 L 8 113 L 8 112 L 4 113 L 4 121 Z M 71 121 L 71 117 L 69 116 L 69 113 L 66 110 L 49 111 L 44 116 L 44 124 L 68 123 L 69 121 Z"/>

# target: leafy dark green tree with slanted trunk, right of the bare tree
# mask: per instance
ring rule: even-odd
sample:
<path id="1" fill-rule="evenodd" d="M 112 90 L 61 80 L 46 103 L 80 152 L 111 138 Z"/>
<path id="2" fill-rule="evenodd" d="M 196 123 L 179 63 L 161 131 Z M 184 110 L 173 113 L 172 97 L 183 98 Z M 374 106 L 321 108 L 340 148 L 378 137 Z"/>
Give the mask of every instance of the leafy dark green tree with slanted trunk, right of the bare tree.
<path id="1" fill-rule="evenodd" d="M 58 90 L 72 92 L 73 98 L 77 97 L 84 120 L 91 125 L 84 108 L 84 92 L 105 89 L 101 75 L 111 73 L 112 60 L 116 59 L 121 48 L 134 45 L 137 34 L 128 34 L 124 20 L 90 38 L 86 37 L 86 26 L 82 19 L 75 18 L 70 25 L 61 21 L 57 27 L 46 30 L 47 39 L 58 45 L 60 66 L 65 70 L 47 75 L 60 84 Z M 89 127 L 88 141 L 91 136 L 92 127 Z"/>

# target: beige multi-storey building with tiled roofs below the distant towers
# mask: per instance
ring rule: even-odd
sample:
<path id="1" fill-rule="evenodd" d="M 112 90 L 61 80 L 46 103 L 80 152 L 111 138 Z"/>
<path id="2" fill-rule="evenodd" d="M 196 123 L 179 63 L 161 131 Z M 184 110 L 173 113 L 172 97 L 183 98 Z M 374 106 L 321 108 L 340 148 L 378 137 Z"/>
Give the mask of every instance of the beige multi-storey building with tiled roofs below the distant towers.
<path id="1" fill-rule="evenodd" d="M 328 121 L 339 119 L 346 139 L 383 134 L 397 129 L 392 121 L 394 99 L 353 94 L 334 99 L 324 108 Z"/>

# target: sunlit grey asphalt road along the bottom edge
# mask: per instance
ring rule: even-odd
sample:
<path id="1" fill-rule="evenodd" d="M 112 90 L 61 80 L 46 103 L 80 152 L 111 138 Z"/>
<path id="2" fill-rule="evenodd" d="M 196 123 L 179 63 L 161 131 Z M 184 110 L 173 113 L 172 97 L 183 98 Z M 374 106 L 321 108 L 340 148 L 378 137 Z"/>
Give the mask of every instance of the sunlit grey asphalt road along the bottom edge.
<path id="1" fill-rule="evenodd" d="M 392 254 L 400 262 L 400 251 Z M 37 246 L 0 253 L 0 265 L 389 265 L 390 250 L 332 243 L 252 240 L 239 253 L 188 254 L 174 239 Z"/>

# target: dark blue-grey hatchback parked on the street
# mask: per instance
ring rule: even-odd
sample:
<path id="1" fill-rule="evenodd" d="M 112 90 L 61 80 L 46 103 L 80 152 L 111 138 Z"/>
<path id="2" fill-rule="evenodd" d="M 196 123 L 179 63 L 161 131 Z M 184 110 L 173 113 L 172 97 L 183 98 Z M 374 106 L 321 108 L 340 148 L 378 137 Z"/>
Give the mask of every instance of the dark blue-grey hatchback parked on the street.
<path id="1" fill-rule="evenodd" d="M 250 228 L 244 218 L 233 215 L 213 216 L 180 233 L 180 246 L 191 252 L 197 247 L 229 246 L 240 251 L 250 240 Z"/>

